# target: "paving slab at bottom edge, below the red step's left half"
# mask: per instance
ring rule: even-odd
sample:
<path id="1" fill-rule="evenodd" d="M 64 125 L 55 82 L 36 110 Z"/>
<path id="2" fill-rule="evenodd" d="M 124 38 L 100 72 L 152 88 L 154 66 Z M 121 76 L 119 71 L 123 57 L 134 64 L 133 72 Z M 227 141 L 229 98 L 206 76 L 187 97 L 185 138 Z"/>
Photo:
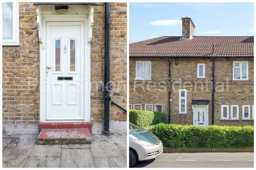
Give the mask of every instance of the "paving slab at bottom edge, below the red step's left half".
<path id="1" fill-rule="evenodd" d="M 60 157 L 29 157 L 24 167 L 27 168 L 58 168 Z"/>

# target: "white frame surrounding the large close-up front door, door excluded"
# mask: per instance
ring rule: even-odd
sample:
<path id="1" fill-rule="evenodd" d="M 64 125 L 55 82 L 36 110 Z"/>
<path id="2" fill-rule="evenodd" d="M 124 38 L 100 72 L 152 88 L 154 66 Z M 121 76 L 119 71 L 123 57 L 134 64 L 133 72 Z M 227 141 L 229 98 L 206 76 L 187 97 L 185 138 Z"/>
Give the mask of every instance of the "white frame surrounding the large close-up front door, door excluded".
<path id="1" fill-rule="evenodd" d="M 40 121 L 46 122 L 46 22 L 50 21 L 83 21 L 84 22 L 84 120 L 91 118 L 91 18 L 90 15 L 42 15 L 40 46 Z M 72 120 L 59 121 L 71 122 Z M 47 121 L 53 122 L 53 121 Z M 58 122 L 55 121 L 54 122 Z M 74 120 L 72 121 L 74 122 Z"/>

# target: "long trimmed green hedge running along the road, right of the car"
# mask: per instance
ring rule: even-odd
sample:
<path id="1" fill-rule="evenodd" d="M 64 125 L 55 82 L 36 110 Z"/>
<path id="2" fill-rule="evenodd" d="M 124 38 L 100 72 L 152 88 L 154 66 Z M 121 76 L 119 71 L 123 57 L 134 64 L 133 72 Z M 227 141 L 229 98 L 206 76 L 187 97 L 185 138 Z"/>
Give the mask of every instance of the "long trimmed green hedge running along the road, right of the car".
<path id="1" fill-rule="evenodd" d="M 165 147 L 253 146 L 253 126 L 217 126 L 160 123 L 150 129 Z"/>

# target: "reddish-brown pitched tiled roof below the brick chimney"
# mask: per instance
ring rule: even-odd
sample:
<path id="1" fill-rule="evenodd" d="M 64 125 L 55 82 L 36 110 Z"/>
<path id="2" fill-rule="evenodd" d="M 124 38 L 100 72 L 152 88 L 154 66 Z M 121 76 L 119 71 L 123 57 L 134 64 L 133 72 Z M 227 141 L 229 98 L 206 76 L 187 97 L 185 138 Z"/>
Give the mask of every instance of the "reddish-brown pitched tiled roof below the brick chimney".
<path id="1" fill-rule="evenodd" d="M 129 55 L 147 57 L 253 57 L 253 37 L 205 37 L 194 36 L 190 40 L 181 37 L 157 37 L 129 46 Z M 214 44 L 214 55 L 213 45 Z"/>

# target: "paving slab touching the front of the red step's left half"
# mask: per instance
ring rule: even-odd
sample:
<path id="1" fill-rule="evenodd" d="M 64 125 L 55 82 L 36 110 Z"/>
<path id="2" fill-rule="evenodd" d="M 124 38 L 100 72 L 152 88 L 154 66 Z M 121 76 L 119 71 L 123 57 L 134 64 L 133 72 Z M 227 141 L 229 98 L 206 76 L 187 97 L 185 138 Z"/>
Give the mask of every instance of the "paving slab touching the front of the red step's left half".
<path id="1" fill-rule="evenodd" d="M 60 156 L 60 145 L 35 145 L 30 153 L 31 157 L 53 157 Z"/>

